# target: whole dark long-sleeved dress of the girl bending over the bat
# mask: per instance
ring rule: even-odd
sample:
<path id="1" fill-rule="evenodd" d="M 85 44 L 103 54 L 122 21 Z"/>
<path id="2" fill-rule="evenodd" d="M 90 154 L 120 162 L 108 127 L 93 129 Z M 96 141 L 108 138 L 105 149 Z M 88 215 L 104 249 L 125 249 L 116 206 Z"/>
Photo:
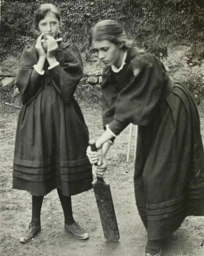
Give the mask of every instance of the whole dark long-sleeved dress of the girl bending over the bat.
<path id="1" fill-rule="evenodd" d="M 173 233 L 188 215 L 204 215 L 204 154 L 189 90 L 153 55 L 133 48 L 125 65 L 103 71 L 103 125 L 118 135 L 138 125 L 134 186 L 150 240 Z"/>

